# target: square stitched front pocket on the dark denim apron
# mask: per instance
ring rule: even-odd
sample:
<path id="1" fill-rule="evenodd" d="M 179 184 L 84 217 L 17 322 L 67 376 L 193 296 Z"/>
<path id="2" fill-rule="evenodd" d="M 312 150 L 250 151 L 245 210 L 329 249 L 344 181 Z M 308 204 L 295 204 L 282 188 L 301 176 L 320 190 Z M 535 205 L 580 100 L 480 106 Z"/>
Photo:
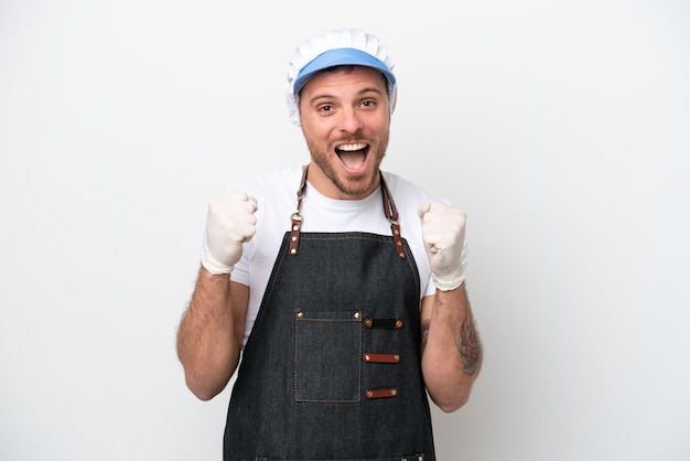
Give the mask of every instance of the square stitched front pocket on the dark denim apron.
<path id="1" fill-rule="evenodd" d="M 359 311 L 295 311 L 297 401 L 362 400 L 362 323 Z"/>

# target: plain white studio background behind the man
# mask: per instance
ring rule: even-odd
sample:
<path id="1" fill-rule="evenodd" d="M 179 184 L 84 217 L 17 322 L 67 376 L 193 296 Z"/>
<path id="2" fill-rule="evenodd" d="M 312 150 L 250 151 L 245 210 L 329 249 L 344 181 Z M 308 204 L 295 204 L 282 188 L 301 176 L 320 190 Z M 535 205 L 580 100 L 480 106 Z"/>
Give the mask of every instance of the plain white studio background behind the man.
<path id="1" fill-rule="evenodd" d="M 486 347 L 439 458 L 690 459 L 690 6 L 0 0 L 0 459 L 219 460 L 174 350 L 211 195 L 308 161 L 313 32 L 397 62 L 384 168 L 468 214 Z"/>

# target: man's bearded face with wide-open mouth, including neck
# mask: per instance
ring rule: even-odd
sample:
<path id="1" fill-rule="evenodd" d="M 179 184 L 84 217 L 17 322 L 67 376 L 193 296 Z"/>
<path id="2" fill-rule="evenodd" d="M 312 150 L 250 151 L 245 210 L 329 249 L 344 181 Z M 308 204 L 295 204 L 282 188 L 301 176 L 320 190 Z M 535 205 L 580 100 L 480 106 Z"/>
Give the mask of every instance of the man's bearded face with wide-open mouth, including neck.
<path id="1" fill-rule="evenodd" d="M 378 187 L 390 128 L 380 72 L 347 66 L 316 74 L 300 93 L 300 117 L 313 160 L 309 181 L 319 192 L 357 200 Z"/>

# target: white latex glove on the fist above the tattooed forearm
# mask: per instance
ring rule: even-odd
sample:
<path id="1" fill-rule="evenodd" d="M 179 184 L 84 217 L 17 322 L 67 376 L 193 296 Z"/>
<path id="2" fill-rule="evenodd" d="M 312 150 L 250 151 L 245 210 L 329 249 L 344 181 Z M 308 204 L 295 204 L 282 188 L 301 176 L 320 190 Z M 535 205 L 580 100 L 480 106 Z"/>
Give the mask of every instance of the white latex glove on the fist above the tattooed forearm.
<path id="1" fill-rule="evenodd" d="M 465 212 L 443 203 L 427 203 L 417 211 L 422 221 L 422 239 L 438 290 L 453 290 L 465 281 L 462 251 L 465 244 Z"/>

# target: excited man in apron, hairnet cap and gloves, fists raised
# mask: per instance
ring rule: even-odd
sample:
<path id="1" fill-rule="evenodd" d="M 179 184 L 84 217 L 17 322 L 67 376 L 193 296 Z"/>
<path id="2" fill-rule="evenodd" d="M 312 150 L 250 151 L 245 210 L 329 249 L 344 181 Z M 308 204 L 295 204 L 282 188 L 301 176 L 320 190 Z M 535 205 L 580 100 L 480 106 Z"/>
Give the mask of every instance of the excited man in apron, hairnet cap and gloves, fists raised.
<path id="1" fill-rule="evenodd" d="M 467 401 L 482 356 L 465 214 L 379 170 L 391 69 L 359 30 L 300 45 L 289 99 L 311 162 L 209 203 L 177 352 L 204 400 L 242 356 L 225 460 L 434 460 L 427 393 Z"/>

